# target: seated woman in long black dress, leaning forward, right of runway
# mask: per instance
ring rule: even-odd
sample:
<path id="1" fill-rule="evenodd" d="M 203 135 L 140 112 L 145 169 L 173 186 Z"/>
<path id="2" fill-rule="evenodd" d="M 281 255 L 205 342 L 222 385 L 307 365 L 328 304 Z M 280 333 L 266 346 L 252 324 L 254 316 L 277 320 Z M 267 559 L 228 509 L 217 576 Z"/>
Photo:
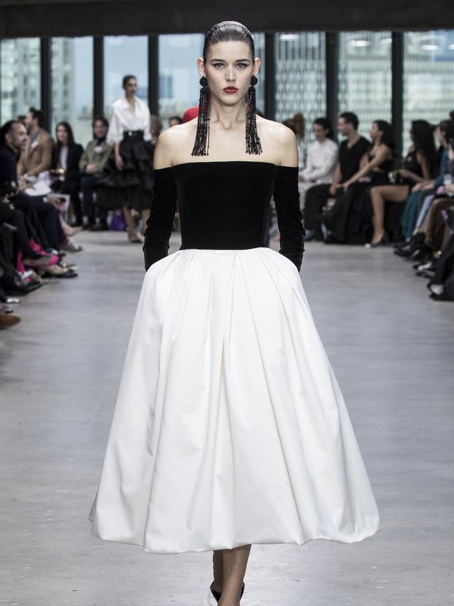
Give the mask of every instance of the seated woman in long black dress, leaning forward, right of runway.
<path id="1" fill-rule="evenodd" d="M 372 146 L 367 162 L 344 181 L 344 194 L 338 196 L 334 207 L 323 215 L 323 224 L 330 231 L 328 243 L 365 244 L 372 235 L 370 195 L 374 187 L 388 183 L 395 143 L 393 129 L 385 120 L 374 120 L 369 136 Z"/>

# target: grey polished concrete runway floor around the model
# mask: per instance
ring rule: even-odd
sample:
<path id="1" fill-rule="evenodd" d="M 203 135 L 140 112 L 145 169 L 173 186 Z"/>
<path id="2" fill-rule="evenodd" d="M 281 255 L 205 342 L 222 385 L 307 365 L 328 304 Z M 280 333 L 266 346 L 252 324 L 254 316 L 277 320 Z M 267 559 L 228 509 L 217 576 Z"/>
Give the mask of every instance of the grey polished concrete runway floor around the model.
<path id="1" fill-rule="evenodd" d="M 212 552 L 91 536 L 144 270 L 124 233 L 77 240 L 79 277 L 22 298 L 21 324 L 0 333 L 0 606 L 214 605 Z M 432 301 L 389 247 L 306 246 L 302 282 L 383 530 L 253 545 L 242 606 L 453 605 L 454 305 Z"/>

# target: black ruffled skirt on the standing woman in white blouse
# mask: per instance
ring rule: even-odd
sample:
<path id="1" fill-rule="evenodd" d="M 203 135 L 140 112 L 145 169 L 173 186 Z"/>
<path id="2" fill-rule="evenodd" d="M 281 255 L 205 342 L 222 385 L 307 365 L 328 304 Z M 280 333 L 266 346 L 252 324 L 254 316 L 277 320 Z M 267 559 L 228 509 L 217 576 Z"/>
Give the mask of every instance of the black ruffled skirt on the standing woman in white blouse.
<path id="1" fill-rule="evenodd" d="M 109 210 L 122 206 L 147 210 L 152 202 L 154 145 L 144 140 L 142 131 L 125 131 L 119 151 L 124 166 L 117 169 L 112 150 L 98 184 L 96 204 Z"/>

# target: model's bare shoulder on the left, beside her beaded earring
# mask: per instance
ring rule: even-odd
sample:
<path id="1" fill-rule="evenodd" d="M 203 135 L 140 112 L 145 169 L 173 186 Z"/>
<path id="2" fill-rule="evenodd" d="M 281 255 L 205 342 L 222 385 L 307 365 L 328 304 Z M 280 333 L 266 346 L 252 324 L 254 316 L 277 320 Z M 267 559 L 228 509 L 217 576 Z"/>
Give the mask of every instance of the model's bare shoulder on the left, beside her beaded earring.
<path id="1" fill-rule="evenodd" d="M 174 166 L 191 157 L 196 129 L 197 119 L 163 131 L 154 150 L 154 168 Z"/>

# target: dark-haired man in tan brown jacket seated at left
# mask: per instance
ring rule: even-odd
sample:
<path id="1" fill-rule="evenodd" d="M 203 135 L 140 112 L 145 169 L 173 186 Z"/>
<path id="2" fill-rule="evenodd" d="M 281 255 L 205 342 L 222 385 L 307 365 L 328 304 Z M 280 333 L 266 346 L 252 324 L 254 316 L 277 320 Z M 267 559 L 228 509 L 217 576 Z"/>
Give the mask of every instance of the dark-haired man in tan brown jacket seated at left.
<path id="1" fill-rule="evenodd" d="M 52 137 L 44 130 L 44 114 L 30 108 L 24 119 L 29 138 L 17 163 L 17 175 L 37 177 L 52 164 Z"/>

